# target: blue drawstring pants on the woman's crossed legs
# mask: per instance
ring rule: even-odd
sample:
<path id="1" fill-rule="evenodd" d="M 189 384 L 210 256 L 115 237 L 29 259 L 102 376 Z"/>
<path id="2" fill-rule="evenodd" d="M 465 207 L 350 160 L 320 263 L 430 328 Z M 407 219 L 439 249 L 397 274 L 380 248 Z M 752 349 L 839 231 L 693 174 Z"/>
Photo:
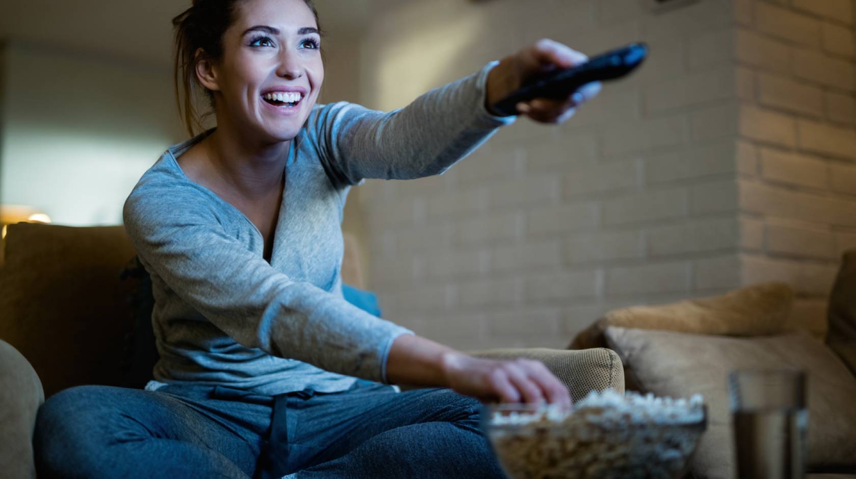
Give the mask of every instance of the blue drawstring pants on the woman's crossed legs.
<path id="1" fill-rule="evenodd" d="M 341 393 L 276 397 L 78 386 L 39 408 L 33 446 L 39 479 L 501 479 L 480 405 L 447 388 L 396 393 L 364 380 Z"/>

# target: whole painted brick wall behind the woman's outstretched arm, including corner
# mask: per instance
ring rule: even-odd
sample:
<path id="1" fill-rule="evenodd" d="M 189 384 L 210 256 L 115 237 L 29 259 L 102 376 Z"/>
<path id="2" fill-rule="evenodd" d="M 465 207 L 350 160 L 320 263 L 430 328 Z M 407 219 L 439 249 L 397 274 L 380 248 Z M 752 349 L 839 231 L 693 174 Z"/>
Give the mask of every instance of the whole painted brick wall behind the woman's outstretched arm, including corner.
<path id="1" fill-rule="evenodd" d="M 768 279 L 822 313 L 856 239 L 853 1 L 647 4 L 377 1 L 376 109 L 538 38 L 651 46 L 562 126 L 520 118 L 445 174 L 354 188 L 385 317 L 461 349 L 564 347 L 605 310 Z"/>

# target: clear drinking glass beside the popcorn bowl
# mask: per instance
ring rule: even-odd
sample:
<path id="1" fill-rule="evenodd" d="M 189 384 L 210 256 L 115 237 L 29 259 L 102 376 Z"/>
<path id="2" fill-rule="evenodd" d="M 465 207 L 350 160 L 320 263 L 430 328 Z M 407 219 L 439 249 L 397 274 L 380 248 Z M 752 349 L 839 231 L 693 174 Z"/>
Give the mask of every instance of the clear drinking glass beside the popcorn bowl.
<path id="1" fill-rule="evenodd" d="M 805 477 L 805 372 L 738 370 L 728 376 L 737 476 Z"/>

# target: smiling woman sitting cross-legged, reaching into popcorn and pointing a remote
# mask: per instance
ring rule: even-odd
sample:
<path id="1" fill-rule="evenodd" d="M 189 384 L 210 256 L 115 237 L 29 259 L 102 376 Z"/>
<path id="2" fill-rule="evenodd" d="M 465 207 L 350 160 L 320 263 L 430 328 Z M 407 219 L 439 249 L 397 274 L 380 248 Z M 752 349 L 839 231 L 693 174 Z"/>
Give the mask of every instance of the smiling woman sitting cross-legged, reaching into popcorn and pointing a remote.
<path id="1" fill-rule="evenodd" d="M 194 0 L 173 23 L 192 138 L 122 209 L 152 277 L 160 358 L 145 390 L 51 396 L 39 476 L 502 477 L 480 401 L 567 407 L 568 388 L 538 361 L 474 358 L 348 303 L 342 210 L 366 178 L 443 174 L 517 118 L 486 104 L 585 56 L 543 40 L 383 112 L 316 104 L 310 0 Z M 217 120 L 200 133 L 197 92 Z M 526 111 L 556 122 L 576 104 Z"/>

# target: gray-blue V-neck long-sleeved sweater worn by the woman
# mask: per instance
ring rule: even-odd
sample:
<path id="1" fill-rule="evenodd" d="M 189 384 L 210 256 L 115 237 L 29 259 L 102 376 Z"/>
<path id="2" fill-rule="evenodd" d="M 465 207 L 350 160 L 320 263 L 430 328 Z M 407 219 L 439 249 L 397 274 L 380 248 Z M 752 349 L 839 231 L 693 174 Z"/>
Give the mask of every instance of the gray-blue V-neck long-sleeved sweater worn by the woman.
<path id="1" fill-rule="evenodd" d="M 190 180 L 176 159 L 211 134 L 169 147 L 125 201 L 125 228 L 152 276 L 154 381 L 267 395 L 388 383 L 393 340 L 413 334 L 342 297 L 342 210 L 366 178 L 443 174 L 515 116 L 484 108 L 489 62 L 389 113 L 316 104 L 291 142 L 270 263 L 259 229 Z"/>

